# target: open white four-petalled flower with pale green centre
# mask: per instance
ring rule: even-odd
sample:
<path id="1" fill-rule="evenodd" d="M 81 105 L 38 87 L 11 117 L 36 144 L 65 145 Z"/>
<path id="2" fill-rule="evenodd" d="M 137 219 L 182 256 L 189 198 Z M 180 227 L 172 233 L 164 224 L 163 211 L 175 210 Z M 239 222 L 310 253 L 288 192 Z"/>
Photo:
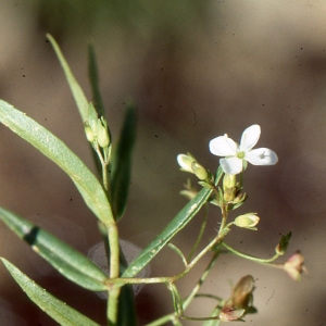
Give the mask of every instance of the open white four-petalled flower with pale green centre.
<path id="1" fill-rule="evenodd" d="M 252 125 L 242 133 L 240 146 L 233 139 L 218 136 L 210 141 L 210 151 L 221 159 L 223 171 L 227 174 L 238 174 L 246 168 L 247 162 L 253 165 L 274 165 L 278 158 L 276 153 L 267 148 L 252 149 L 259 141 L 261 127 Z"/>

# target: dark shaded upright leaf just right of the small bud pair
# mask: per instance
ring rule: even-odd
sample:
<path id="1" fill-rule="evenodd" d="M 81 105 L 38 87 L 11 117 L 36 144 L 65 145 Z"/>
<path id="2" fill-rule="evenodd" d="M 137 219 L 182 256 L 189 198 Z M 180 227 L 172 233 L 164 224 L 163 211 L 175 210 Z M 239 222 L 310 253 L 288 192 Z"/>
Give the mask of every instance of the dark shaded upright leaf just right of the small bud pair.
<path id="1" fill-rule="evenodd" d="M 131 175 L 131 153 L 136 139 L 135 105 L 128 104 L 126 117 L 116 150 L 112 155 L 111 191 L 112 205 L 116 220 L 121 220 L 126 208 Z"/>

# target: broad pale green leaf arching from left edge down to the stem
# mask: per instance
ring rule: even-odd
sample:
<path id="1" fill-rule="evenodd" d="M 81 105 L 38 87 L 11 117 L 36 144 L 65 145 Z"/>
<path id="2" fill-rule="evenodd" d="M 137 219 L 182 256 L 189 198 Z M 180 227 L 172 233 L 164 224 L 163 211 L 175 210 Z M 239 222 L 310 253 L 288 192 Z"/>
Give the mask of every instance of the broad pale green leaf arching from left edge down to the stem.
<path id="1" fill-rule="evenodd" d="M 112 210 L 101 184 L 63 141 L 2 100 L 0 122 L 59 165 L 72 178 L 88 208 L 104 225 L 113 221 Z"/>

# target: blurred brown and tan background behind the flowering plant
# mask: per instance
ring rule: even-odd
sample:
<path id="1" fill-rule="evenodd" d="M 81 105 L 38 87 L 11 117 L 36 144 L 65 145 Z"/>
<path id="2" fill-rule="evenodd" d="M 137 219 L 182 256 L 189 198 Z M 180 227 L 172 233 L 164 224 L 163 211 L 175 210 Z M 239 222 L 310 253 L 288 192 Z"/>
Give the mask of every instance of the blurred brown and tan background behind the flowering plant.
<path id="1" fill-rule="evenodd" d="M 280 262 L 300 249 L 309 275 L 296 284 L 281 271 L 224 255 L 203 291 L 227 298 L 230 284 L 251 274 L 259 314 L 247 316 L 249 325 L 326 325 L 325 1 L 1 0 L 0 8 L 0 98 L 63 139 L 92 170 L 78 112 L 46 33 L 60 43 L 89 99 L 87 46 L 95 45 L 113 138 L 125 102 L 137 103 L 135 165 L 121 237 L 138 247 L 146 247 L 186 203 L 178 192 L 188 175 L 178 171 L 176 155 L 189 151 L 215 171 L 218 158 L 209 152 L 209 141 L 225 133 L 239 140 L 246 127 L 260 124 L 258 147 L 276 151 L 279 163 L 248 167 L 249 199 L 239 213 L 258 212 L 259 230 L 235 230 L 228 243 L 268 258 L 280 235 L 291 230 Z M 100 235 L 71 180 L 4 126 L 0 137 L 0 205 L 87 253 Z M 200 218 L 173 242 L 189 250 Z M 218 218 L 212 208 L 208 239 Z M 0 254 L 104 325 L 100 298 L 64 281 L 3 225 Z M 173 255 L 163 250 L 151 275 L 179 272 Z M 205 263 L 178 283 L 184 296 Z M 1 325 L 55 325 L 3 266 L 0 275 Z M 204 316 L 212 306 L 198 299 L 187 313 Z M 147 286 L 137 309 L 145 325 L 172 311 L 170 294 L 162 285 Z"/>

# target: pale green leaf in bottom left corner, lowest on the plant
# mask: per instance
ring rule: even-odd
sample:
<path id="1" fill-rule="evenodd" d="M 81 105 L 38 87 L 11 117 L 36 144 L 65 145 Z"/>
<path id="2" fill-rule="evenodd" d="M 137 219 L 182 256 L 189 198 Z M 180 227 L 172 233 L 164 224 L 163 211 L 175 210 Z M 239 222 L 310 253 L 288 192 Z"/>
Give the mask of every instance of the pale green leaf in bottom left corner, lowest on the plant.
<path id="1" fill-rule="evenodd" d="M 60 325 L 64 326 L 99 326 L 78 311 L 68 306 L 63 301 L 57 299 L 33 279 L 22 273 L 15 265 L 1 258 L 4 266 L 20 285 L 23 291 L 34 301 L 43 312 L 51 316 Z"/>

